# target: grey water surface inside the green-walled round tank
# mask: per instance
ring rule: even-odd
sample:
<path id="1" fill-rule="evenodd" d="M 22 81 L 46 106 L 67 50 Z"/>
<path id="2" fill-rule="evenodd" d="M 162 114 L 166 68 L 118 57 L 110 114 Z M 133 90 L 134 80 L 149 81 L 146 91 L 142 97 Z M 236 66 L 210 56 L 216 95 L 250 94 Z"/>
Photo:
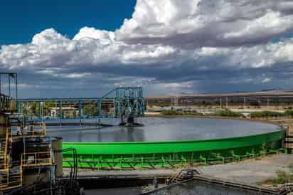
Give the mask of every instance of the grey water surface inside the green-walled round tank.
<path id="1" fill-rule="evenodd" d="M 117 125 L 119 120 L 102 122 Z M 243 120 L 144 117 L 137 122 L 144 127 L 47 127 L 47 135 L 63 137 L 63 142 L 158 142 L 240 137 L 279 130 L 276 125 Z"/>

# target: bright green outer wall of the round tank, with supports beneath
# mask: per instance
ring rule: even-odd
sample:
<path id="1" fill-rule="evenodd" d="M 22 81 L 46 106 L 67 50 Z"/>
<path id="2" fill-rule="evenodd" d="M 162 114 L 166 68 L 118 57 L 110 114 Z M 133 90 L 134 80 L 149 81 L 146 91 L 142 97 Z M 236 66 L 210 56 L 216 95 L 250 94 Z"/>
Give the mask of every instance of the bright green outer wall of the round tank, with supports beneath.
<path id="1" fill-rule="evenodd" d="M 144 167 L 183 162 L 208 162 L 240 159 L 282 147 L 285 132 L 269 132 L 246 137 L 179 142 L 98 142 L 63 143 L 63 149 L 78 151 L 79 167 Z M 71 154 L 63 154 L 63 166 L 71 164 Z"/>

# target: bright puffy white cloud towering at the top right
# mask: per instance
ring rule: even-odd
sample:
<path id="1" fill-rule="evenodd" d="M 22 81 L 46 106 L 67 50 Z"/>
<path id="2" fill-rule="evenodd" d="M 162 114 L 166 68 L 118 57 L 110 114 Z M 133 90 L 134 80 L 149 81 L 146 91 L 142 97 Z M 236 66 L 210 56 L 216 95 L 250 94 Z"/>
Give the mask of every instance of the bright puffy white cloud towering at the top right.
<path id="1" fill-rule="evenodd" d="M 116 34 L 184 48 L 254 45 L 292 30 L 292 10 L 292 2 L 274 0 L 137 0 Z"/>

